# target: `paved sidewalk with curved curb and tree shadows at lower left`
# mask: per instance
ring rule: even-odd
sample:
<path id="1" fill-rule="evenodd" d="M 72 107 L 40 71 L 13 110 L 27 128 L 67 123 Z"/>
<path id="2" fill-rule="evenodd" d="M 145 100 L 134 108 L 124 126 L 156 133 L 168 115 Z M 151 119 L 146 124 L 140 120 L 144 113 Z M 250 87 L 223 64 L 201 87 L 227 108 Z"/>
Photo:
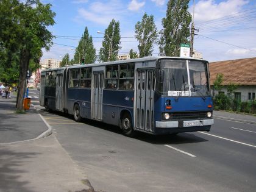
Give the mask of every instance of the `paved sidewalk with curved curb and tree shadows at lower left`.
<path id="1" fill-rule="evenodd" d="M 15 101 L 0 98 L 0 191 L 93 192 L 54 135 L 41 134 L 50 133 L 51 127 L 37 110 L 32 107 L 26 114 L 16 114 Z M 35 139 L 39 135 L 44 138 Z"/>

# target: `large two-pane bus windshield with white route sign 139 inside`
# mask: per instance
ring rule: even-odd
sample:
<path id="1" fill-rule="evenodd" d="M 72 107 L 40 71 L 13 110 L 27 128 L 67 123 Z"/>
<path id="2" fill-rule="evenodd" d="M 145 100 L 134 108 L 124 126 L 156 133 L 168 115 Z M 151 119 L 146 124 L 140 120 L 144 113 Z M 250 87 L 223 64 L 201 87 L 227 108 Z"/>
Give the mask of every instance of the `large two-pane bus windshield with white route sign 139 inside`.
<path id="1" fill-rule="evenodd" d="M 162 59 L 158 62 L 158 91 L 163 96 L 210 95 L 207 62 Z"/>

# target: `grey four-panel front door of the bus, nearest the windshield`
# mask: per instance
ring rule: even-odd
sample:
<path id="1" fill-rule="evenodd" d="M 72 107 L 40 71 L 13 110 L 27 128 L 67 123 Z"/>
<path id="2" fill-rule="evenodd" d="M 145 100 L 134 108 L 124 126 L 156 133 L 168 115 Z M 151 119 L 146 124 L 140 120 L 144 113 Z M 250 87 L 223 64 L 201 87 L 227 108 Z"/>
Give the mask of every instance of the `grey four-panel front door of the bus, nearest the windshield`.
<path id="1" fill-rule="evenodd" d="M 154 69 L 138 69 L 136 91 L 135 127 L 147 132 L 154 132 Z"/>

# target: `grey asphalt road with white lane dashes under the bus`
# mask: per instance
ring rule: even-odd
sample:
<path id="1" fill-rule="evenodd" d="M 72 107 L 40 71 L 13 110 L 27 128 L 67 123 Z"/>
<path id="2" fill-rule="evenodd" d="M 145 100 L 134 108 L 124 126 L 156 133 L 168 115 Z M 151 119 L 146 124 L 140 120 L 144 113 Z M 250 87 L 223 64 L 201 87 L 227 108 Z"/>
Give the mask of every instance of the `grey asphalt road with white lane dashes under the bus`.
<path id="1" fill-rule="evenodd" d="M 118 127 L 44 113 L 98 191 L 255 191 L 256 125 L 215 119 L 210 132 L 121 135 Z"/>

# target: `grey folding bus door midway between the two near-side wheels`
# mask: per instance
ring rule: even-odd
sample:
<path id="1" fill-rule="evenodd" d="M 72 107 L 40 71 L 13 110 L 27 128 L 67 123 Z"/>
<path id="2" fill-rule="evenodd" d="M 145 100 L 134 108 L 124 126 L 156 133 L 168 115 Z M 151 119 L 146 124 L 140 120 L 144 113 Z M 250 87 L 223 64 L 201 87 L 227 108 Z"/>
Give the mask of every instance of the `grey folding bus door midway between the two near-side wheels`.
<path id="1" fill-rule="evenodd" d="M 102 98 L 103 98 L 103 71 L 93 73 L 93 105 L 91 107 L 91 118 L 102 121 Z"/>

